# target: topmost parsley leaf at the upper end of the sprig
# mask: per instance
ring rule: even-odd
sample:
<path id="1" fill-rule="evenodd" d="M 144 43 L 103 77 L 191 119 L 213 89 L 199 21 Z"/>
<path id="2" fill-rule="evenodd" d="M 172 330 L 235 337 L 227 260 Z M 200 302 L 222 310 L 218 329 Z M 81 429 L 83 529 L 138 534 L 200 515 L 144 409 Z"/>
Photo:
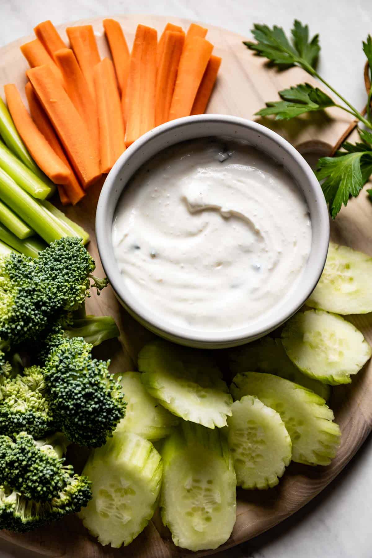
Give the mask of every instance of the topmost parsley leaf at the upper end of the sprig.
<path id="1" fill-rule="evenodd" d="M 298 20 L 294 20 L 291 32 L 292 44 L 282 27 L 274 25 L 270 29 L 267 25 L 255 23 L 252 34 L 257 43 L 244 41 L 244 45 L 255 50 L 259 56 L 268 58 L 281 69 L 298 65 L 313 74 L 320 51 L 318 35 L 309 41 L 308 26 L 302 25 Z"/>

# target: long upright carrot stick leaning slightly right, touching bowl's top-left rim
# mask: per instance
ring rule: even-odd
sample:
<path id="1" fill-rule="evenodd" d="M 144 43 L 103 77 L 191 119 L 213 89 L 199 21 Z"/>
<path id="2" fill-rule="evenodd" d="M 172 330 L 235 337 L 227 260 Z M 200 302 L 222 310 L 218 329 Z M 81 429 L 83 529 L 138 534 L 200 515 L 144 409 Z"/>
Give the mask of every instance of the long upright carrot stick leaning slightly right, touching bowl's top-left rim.
<path id="1" fill-rule="evenodd" d="M 125 94 L 127 146 L 155 126 L 156 47 L 156 29 L 138 25 Z"/>

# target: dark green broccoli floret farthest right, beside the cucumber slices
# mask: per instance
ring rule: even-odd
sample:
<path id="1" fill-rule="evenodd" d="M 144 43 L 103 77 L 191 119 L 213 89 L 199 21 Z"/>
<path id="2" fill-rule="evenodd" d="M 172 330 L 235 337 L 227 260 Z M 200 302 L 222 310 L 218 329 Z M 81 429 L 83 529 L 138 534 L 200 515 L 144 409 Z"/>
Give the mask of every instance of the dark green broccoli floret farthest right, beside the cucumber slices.
<path id="1" fill-rule="evenodd" d="M 109 361 L 91 358 L 83 338 L 64 339 L 45 365 L 50 406 L 67 439 L 83 446 L 102 446 L 125 414 L 120 384 L 109 373 Z"/>

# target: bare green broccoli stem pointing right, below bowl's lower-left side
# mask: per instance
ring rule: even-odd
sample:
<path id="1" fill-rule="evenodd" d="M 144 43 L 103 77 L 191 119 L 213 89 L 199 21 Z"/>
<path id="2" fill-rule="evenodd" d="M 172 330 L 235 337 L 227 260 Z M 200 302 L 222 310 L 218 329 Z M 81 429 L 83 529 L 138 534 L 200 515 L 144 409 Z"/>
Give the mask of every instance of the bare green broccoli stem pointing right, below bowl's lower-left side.
<path id="1" fill-rule="evenodd" d="M 85 316 L 85 318 L 74 320 L 74 325 L 64 333 L 67 339 L 83 337 L 86 343 L 94 347 L 119 335 L 118 326 L 111 316 Z"/>

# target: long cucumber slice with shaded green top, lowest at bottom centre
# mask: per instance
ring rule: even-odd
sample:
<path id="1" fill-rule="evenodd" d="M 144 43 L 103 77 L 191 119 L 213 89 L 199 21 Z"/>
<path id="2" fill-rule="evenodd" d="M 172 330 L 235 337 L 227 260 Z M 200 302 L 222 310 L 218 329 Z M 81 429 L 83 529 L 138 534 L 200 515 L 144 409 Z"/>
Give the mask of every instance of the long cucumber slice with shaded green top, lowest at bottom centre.
<path id="1" fill-rule="evenodd" d="M 236 514 L 236 477 L 219 430 L 182 422 L 162 448 L 161 516 L 177 546 L 216 549 L 228 540 Z"/>

